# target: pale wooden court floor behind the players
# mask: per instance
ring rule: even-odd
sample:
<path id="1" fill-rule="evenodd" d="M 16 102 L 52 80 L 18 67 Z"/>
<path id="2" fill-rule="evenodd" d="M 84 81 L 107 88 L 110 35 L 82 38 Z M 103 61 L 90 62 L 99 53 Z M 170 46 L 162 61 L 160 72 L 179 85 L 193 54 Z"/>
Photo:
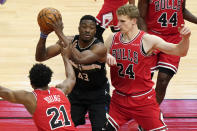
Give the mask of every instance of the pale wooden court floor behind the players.
<path id="1" fill-rule="evenodd" d="M 63 16 L 65 34 L 75 35 L 81 16 L 96 16 L 102 3 L 103 0 L 7 0 L 0 5 L 0 85 L 14 90 L 32 90 L 28 71 L 36 63 L 35 48 L 40 35 L 37 14 L 42 8 L 57 8 Z M 196 0 L 187 0 L 186 8 L 197 16 Z M 169 84 L 166 98 L 170 99 L 197 98 L 197 25 L 188 22 L 186 25 L 192 31 L 190 49 L 181 59 L 179 71 Z M 110 33 L 107 30 L 104 38 Z M 56 41 L 54 33 L 49 35 L 48 45 Z M 65 79 L 60 56 L 44 63 L 54 71 L 51 85 Z"/>

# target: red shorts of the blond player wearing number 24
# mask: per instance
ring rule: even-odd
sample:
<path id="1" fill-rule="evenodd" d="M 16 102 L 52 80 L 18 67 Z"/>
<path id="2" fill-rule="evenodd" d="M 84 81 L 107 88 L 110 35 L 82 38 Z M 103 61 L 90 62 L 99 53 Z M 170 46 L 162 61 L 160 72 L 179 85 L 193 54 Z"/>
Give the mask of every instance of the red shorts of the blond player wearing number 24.
<path id="1" fill-rule="evenodd" d="M 116 130 L 132 119 L 145 130 L 167 129 L 156 102 L 154 89 L 140 96 L 126 96 L 114 90 L 107 117 Z"/>

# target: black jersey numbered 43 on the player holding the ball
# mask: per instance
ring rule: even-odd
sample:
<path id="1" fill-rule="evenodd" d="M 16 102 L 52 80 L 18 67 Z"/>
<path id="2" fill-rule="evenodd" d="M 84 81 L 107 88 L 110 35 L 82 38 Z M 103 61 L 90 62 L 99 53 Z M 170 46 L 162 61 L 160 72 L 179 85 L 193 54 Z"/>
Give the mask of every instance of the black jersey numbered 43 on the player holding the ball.
<path id="1" fill-rule="evenodd" d="M 74 37 L 74 40 L 78 40 L 79 35 Z M 76 48 L 83 52 L 89 50 L 93 45 L 98 44 L 100 41 L 94 38 L 93 42 L 86 48 L 80 48 L 79 43 L 77 43 Z M 107 82 L 105 63 L 100 63 L 98 61 L 92 64 L 75 64 L 72 62 L 75 75 L 76 84 L 72 91 L 74 93 L 76 90 L 98 90 L 104 88 Z"/>

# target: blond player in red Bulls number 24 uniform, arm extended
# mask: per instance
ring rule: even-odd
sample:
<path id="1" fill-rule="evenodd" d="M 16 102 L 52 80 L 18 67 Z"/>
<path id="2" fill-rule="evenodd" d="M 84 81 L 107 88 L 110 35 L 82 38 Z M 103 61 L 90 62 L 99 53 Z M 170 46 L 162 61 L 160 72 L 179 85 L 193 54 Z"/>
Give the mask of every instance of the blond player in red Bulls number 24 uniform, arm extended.
<path id="1" fill-rule="evenodd" d="M 134 5 L 118 8 L 120 32 L 105 42 L 110 54 L 107 63 L 111 66 L 111 81 L 115 90 L 110 103 L 108 122 L 103 130 L 114 131 L 131 119 L 145 130 L 167 130 L 152 88 L 151 65 L 153 52 L 185 56 L 189 48 L 190 30 L 180 29 L 182 41 L 168 43 L 158 36 L 140 31 L 137 26 L 139 11 Z"/>

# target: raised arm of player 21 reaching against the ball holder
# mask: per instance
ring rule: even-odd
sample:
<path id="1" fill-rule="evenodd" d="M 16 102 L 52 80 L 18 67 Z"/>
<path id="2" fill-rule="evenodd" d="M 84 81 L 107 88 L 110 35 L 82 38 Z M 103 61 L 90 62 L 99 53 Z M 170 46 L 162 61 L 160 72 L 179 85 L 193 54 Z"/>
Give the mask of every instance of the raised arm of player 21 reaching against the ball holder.
<path id="1" fill-rule="evenodd" d="M 60 88 L 64 94 L 67 95 L 72 91 L 76 82 L 75 72 L 69 62 L 70 47 L 62 47 L 61 55 L 64 62 L 66 80 L 64 80 L 61 84 L 58 84 L 56 87 Z"/>

